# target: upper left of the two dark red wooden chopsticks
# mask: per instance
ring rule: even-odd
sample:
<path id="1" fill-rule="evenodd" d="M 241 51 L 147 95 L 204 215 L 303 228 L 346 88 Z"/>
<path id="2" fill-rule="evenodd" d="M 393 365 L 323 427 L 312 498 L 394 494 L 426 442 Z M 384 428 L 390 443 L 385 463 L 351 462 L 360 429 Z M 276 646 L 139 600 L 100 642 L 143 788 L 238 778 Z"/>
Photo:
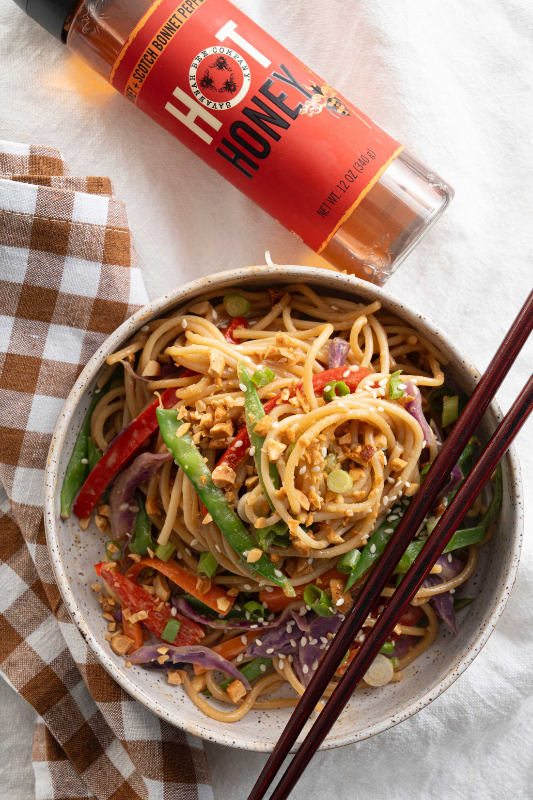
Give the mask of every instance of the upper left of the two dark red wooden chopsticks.
<path id="1" fill-rule="evenodd" d="M 381 591 L 389 581 L 392 572 L 395 570 L 397 563 L 404 554 L 404 550 L 409 542 L 411 542 L 414 532 L 419 529 L 424 517 L 427 516 L 434 505 L 436 495 L 447 481 L 452 467 L 457 462 L 459 455 L 463 452 L 475 428 L 479 425 L 483 414 L 503 382 L 503 378 L 505 378 L 512 364 L 515 362 L 516 356 L 522 349 L 529 334 L 531 334 L 532 329 L 533 291 L 529 294 L 511 328 L 508 330 L 505 338 L 503 338 L 499 350 L 496 352 L 494 358 L 492 358 L 483 377 L 475 387 L 471 398 L 467 402 L 466 408 L 463 410 L 463 414 L 461 414 L 459 420 L 455 423 L 451 434 L 447 437 L 444 446 L 433 462 L 428 477 L 420 486 L 420 490 L 413 498 L 410 506 L 407 507 L 404 517 L 396 528 L 395 533 L 392 534 L 391 541 L 388 542 L 388 546 L 384 550 L 380 561 L 377 563 L 376 569 L 372 572 L 372 579 L 364 584 L 356 602 L 348 611 L 348 614 L 346 614 L 344 622 L 340 626 L 336 636 L 332 639 L 332 643 L 328 650 L 326 650 L 326 654 L 324 658 L 322 658 L 318 670 L 316 670 L 316 673 L 313 675 L 309 686 L 300 698 L 300 702 L 298 702 L 287 726 L 285 726 L 280 735 L 268 762 L 265 764 L 252 792 L 249 794 L 248 800 L 261 800 L 261 798 L 265 796 L 265 792 L 268 790 L 272 779 L 280 769 L 284 758 L 295 744 L 312 710 L 324 694 L 328 682 L 332 679 L 340 662 L 344 658 L 348 646 L 362 628 L 364 620 L 368 617 L 369 610 L 376 604 L 378 598 L 380 598 Z M 402 583 L 404 583 L 404 581 Z M 358 661 L 359 657 L 354 659 L 352 664 Z M 347 670 L 345 676 L 348 675 L 349 671 L 350 670 Z M 331 698 L 322 714 L 328 713 L 328 706 L 330 706 L 330 704 Z"/>

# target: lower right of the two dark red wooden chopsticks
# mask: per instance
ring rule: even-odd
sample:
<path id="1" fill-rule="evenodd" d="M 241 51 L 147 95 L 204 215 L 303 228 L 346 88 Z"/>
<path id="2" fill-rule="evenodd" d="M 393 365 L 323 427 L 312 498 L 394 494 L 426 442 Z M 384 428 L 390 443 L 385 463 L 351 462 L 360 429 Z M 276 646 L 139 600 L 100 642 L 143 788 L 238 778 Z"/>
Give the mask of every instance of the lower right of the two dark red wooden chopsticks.
<path id="1" fill-rule="evenodd" d="M 533 410 L 533 374 L 524 386 L 519 398 L 499 425 L 495 434 L 471 473 L 467 476 L 463 486 L 440 518 L 428 542 L 412 564 L 400 586 L 388 601 L 384 611 L 380 614 L 370 634 L 360 646 L 359 652 L 348 667 L 348 670 L 337 684 L 325 710 L 319 714 L 315 724 L 309 731 L 286 772 L 280 779 L 276 789 L 272 792 L 270 800 L 285 800 L 289 792 L 301 777 L 305 767 L 320 744 L 324 741 L 329 730 L 335 724 L 344 706 L 352 696 L 353 690 L 372 664 L 380 649 L 384 646 L 396 622 L 407 610 L 412 598 L 427 578 L 432 566 L 442 554 L 447 543 L 455 533 L 457 526 L 462 522 L 476 496 L 483 489 L 491 477 L 495 467 L 511 445 L 515 435 Z"/>

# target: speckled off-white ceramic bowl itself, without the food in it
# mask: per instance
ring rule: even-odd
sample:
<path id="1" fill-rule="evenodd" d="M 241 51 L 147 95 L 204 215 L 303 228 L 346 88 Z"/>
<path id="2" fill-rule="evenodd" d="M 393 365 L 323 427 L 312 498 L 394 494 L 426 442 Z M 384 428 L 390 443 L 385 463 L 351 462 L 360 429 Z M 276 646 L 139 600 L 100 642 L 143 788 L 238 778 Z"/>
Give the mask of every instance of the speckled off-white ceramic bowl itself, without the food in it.
<path id="1" fill-rule="evenodd" d="M 173 725 L 213 742 L 263 752 L 272 750 L 290 710 L 252 711 L 231 725 L 216 722 L 205 717 L 181 687 L 169 686 L 164 676 L 151 670 L 136 666 L 126 670 L 124 660 L 113 654 L 104 638 L 105 620 L 90 588 L 94 580 L 93 564 L 101 560 L 101 534 L 96 526 L 89 527 L 82 534 L 75 520 L 62 521 L 59 493 L 97 374 L 106 356 L 119 349 L 133 331 L 214 287 L 251 288 L 291 282 L 307 282 L 319 294 L 327 290 L 330 295 L 349 296 L 364 302 L 379 298 L 384 308 L 404 318 L 449 356 L 451 364 L 447 374 L 450 378 L 467 391 L 473 389 L 478 373 L 451 338 L 443 334 L 434 322 L 398 301 L 387 290 L 346 275 L 305 266 L 229 270 L 200 278 L 165 294 L 109 336 L 83 370 L 66 401 L 46 468 L 45 522 L 50 558 L 62 598 L 101 664 L 133 698 Z M 490 434 L 498 420 L 499 409 L 492 404 L 485 418 L 483 434 Z M 459 612 L 459 635 L 454 636 L 445 626 L 440 626 L 432 648 L 408 666 L 402 682 L 379 690 L 357 691 L 326 738 L 324 748 L 356 742 L 396 725 L 427 706 L 459 677 L 487 642 L 507 602 L 519 563 L 522 530 L 519 463 L 511 448 L 503 460 L 503 507 L 497 532 L 490 545 L 481 551 L 475 574 L 467 582 L 466 591 L 475 596 L 475 602 Z"/>

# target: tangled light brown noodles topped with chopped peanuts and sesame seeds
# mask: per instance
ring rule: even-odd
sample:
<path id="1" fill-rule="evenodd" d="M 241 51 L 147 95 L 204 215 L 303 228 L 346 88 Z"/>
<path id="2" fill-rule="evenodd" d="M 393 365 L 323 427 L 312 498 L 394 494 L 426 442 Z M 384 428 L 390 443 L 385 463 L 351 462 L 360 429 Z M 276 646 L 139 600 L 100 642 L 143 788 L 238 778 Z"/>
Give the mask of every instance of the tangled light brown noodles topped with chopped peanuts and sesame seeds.
<path id="1" fill-rule="evenodd" d="M 256 665 L 251 690 L 245 691 L 241 684 L 237 686 L 240 689 L 237 694 L 234 690 L 239 682 L 233 681 L 235 686 L 228 684 L 227 690 L 222 688 L 214 666 L 193 678 L 184 673 L 183 685 L 189 698 L 219 722 L 236 722 L 251 709 L 294 706 L 304 693 L 305 684 L 333 634 L 321 637 L 317 634 L 312 638 L 312 634 L 303 630 L 304 622 L 300 623 L 301 628 L 296 625 L 298 614 L 309 610 L 307 621 L 315 620 L 316 624 L 317 619 L 314 608 L 306 606 L 301 587 L 308 584 L 320 587 L 326 598 L 324 602 L 331 602 L 332 610 L 326 617 L 340 621 L 336 614 L 338 592 L 348 573 L 337 571 L 336 567 L 343 570 L 343 559 L 354 550 L 363 553 L 361 560 L 369 558 L 372 546 L 376 549 L 376 544 L 372 545 L 376 531 L 392 534 L 404 504 L 420 486 L 424 466 L 436 458 L 438 437 L 432 434 L 431 441 L 425 441 L 424 431 L 409 404 L 419 402 L 419 418 L 424 411 L 426 417 L 432 418 L 433 431 L 442 430 L 440 412 L 432 405 L 431 392 L 443 386 L 441 365 L 447 363 L 432 342 L 403 320 L 384 313 L 377 300 L 364 305 L 345 298 L 320 297 L 301 283 L 285 286 L 283 291 L 239 289 L 231 296 L 240 298 L 245 322 L 242 317 L 232 322 L 226 298 L 221 297 L 219 290 L 210 290 L 166 318 L 149 322 L 121 350 L 110 355 L 97 382 L 98 391 L 104 386 L 108 388 L 99 398 L 90 423 L 92 442 L 103 452 L 116 434 L 134 425 L 149 408 L 155 392 L 174 390 L 177 419 L 187 426 L 192 446 L 200 451 L 213 473 L 213 481 L 229 509 L 244 522 L 256 543 L 253 549 L 256 561 L 249 558 L 250 551 L 239 554 L 229 542 L 227 531 L 213 522 L 204 507 L 193 477 L 173 460 L 162 458 L 157 469 L 145 475 L 143 482 L 135 487 L 140 493 L 136 497 L 141 496 L 145 502 L 153 536 L 153 547 L 149 546 L 147 553 L 142 552 L 144 558 L 148 554 L 147 563 L 153 564 L 153 570 L 141 571 L 136 577 L 145 594 L 162 598 L 159 610 L 163 609 L 169 618 L 176 613 L 175 609 L 170 613 L 170 602 L 180 598 L 183 588 L 173 578 L 157 577 L 174 574 L 163 568 L 157 558 L 153 559 L 157 550 L 156 555 L 160 554 L 171 570 L 179 568 L 192 577 L 192 595 L 187 594 L 187 602 L 201 603 L 190 606 L 193 611 L 200 608 L 195 613 L 203 620 L 204 635 L 197 634 L 195 640 L 199 646 L 213 648 L 213 653 L 227 652 L 237 669 L 253 670 L 254 659 L 261 659 L 261 671 L 257 672 Z M 336 349 L 344 355 L 340 364 L 330 367 L 328 362 L 336 358 Z M 246 386 L 237 376 L 240 363 L 248 368 L 252 382 L 257 383 L 258 398 L 268 403 L 265 422 L 260 418 L 256 423 L 261 423 L 261 434 L 254 430 L 254 434 L 261 435 L 262 442 L 257 454 L 240 440 L 247 402 Z M 189 372 L 184 374 L 184 368 Z M 326 370 L 336 372 L 326 372 L 323 376 Z M 400 378 L 396 378 L 400 388 L 394 391 L 393 373 L 400 373 Z M 406 391 L 409 382 L 416 387 L 410 390 L 411 394 Z M 412 398 L 413 392 L 416 398 Z M 239 443 L 241 450 L 237 452 Z M 133 456 L 139 452 L 166 454 L 167 443 L 161 430 L 146 438 Z M 335 473 L 342 478 L 340 484 L 332 481 Z M 334 486 L 344 488 L 334 489 Z M 111 497 L 111 506 L 113 502 Z M 111 512 L 105 508 L 105 503 L 99 506 L 98 514 L 109 515 Z M 138 511 L 129 500 L 123 508 L 113 506 L 114 518 L 125 509 Z M 469 514 L 476 518 L 485 511 L 479 494 Z M 441 513 L 442 509 L 434 510 L 436 518 Z M 105 526 L 107 538 L 121 538 L 115 535 L 105 516 L 99 519 L 98 526 L 100 530 Z M 418 538 L 431 535 L 426 522 L 417 532 Z M 129 530 L 126 542 L 121 538 L 119 546 L 128 545 L 126 558 L 138 562 L 141 556 L 135 550 L 135 526 Z M 437 565 L 432 570 L 435 585 L 423 586 L 417 592 L 411 609 L 394 630 L 393 642 L 404 636 L 416 637 L 418 641 L 403 658 L 396 659 L 388 682 L 402 680 L 403 670 L 432 646 L 438 628 L 432 598 L 447 592 L 453 594 L 467 581 L 475 570 L 479 547 L 489 541 L 493 530 L 492 521 L 483 541 L 479 542 L 479 536 L 468 546 L 466 560 L 460 560 L 465 558 L 461 553 L 459 558 L 454 557 L 451 577 L 444 572 L 445 562 L 444 567 Z M 268 563 L 272 562 L 276 568 L 274 574 L 282 576 L 292 590 L 300 593 L 295 600 L 281 598 L 276 582 L 265 577 L 259 567 L 255 569 L 263 550 Z M 201 554 L 214 563 L 208 577 L 198 571 Z M 108 561 L 106 549 L 105 562 Z M 371 562 L 368 566 L 372 566 Z M 367 567 L 354 581 L 351 589 L 354 596 L 368 574 Z M 166 586 L 169 588 L 165 589 Z M 120 592 L 116 594 L 108 583 L 105 587 L 105 598 L 121 602 Z M 381 594 L 390 598 L 395 588 L 392 582 Z M 208 602 L 213 591 L 229 598 L 228 606 L 233 604 L 233 617 L 225 617 L 224 606 L 223 612 L 213 618 L 224 618 L 227 622 L 224 628 L 217 627 L 214 621 L 213 626 L 205 622 L 207 612 L 215 612 L 209 611 L 202 598 Z M 271 597 L 276 605 L 272 605 Z M 344 603 L 342 597 L 340 603 Z M 124 609 L 125 602 L 121 605 Z M 352 654 L 376 623 L 381 610 L 372 611 L 364 623 L 352 644 Z M 279 622 L 279 627 L 271 628 L 278 625 L 280 613 L 288 616 Z M 235 622 L 233 628 L 235 617 L 241 620 L 241 626 Z M 175 638 L 178 642 L 179 630 L 183 630 L 180 626 L 186 627 L 189 620 L 187 614 L 174 618 L 179 622 Z M 152 630 L 149 618 L 144 624 Z M 248 638 L 243 634 L 243 630 L 246 633 L 253 629 L 257 629 L 257 634 L 249 634 Z M 257 656 L 253 642 L 261 648 L 269 631 L 272 635 L 278 631 L 276 635 L 280 641 L 283 639 L 284 650 L 272 647 L 266 651 L 267 655 L 261 652 Z M 302 650 L 306 640 L 307 648 L 315 648 L 312 652 L 316 654 L 316 658 L 307 661 Z M 157 642 L 160 645 L 157 654 L 169 650 L 161 634 L 157 635 Z M 392 654 L 395 646 L 393 643 Z M 157 654 L 152 660 L 159 658 Z M 129 658 L 135 658 L 135 653 Z M 332 694 L 339 674 L 325 690 L 323 699 Z M 365 677 L 371 681 L 369 674 L 370 670 Z M 373 688 L 368 681 L 361 681 L 357 688 Z M 259 699 L 287 685 L 296 697 Z M 233 704 L 235 709 L 218 709 L 203 694 L 205 691 L 213 702 Z M 316 710 L 323 707 L 321 701 Z"/>

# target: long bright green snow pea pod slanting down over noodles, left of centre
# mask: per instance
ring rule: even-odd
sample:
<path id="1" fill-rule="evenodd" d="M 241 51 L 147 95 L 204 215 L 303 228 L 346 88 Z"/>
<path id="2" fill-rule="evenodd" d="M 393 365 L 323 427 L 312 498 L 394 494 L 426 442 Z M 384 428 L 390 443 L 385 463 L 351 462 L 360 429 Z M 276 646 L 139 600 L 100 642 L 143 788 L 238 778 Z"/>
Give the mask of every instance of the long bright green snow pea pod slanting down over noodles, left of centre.
<path id="1" fill-rule="evenodd" d="M 281 570 L 276 569 L 270 559 L 262 554 L 258 561 L 249 564 L 246 556 L 256 547 L 256 543 L 246 530 L 242 520 L 229 506 L 224 493 L 213 483 L 213 476 L 209 466 L 194 444 L 188 433 L 179 436 L 179 429 L 184 424 L 177 418 L 176 409 L 157 409 L 157 422 L 165 445 L 173 454 L 174 460 L 189 478 L 197 490 L 197 494 L 204 503 L 205 508 L 213 518 L 213 522 L 220 528 L 222 535 L 228 540 L 233 550 L 241 557 L 241 563 L 250 573 L 260 574 L 268 581 L 280 586 L 287 597 L 294 597 L 295 592 L 288 578 Z"/>

